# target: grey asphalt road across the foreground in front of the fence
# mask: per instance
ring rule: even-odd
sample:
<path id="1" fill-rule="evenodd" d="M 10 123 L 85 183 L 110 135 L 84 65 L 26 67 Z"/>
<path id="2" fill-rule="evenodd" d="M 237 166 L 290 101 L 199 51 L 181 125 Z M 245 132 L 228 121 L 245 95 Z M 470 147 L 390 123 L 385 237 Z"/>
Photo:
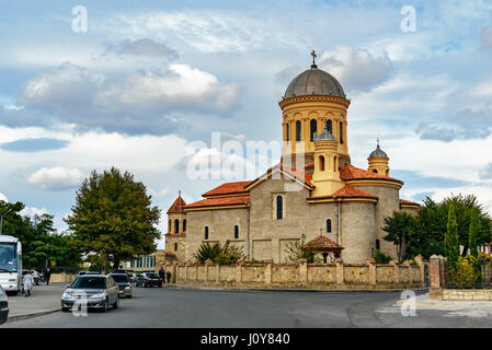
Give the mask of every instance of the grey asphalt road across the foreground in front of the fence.
<path id="1" fill-rule="evenodd" d="M 134 289 L 118 310 L 54 313 L 0 327 L 492 327 L 492 307 L 417 310 L 404 317 L 397 292 L 226 292 Z"/>

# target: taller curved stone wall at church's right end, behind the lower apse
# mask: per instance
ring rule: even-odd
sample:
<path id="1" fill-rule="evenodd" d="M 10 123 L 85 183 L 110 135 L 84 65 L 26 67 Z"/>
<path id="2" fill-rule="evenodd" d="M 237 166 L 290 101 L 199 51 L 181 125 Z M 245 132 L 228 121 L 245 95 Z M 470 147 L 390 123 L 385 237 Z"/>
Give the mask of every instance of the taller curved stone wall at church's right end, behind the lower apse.
<path id="1" fill-rule="evenodd" d="M 352 186 L 352 185 L 351 185 Z M 385 225 L 385 218 L 391 217 L 394 210 L 400 210 L 400 191 L 394 187 L 386 186 L 355 186 L 361 190 L 377 196 L 378 202 L 375 211 L 375 224 L 376 224 L 376 237 L 379 240 L 380 250 L 385 254 L 389 254 L 393 259 L 397 258 L 397 247 L 391 243 L 385 241 L 382 237 L 387 235 L 387 232 L 382 231 Z M 373 243 L 375 246 L 375 242 Z"/>

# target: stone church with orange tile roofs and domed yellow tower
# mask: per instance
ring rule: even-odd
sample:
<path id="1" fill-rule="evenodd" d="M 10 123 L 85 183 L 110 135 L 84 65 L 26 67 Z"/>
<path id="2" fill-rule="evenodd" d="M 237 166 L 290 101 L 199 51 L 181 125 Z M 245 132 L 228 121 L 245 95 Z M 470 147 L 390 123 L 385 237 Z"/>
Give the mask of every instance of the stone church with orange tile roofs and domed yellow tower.
<path id="1" fill-rule="evenodd" d="M 186 205 L 181 195 L 168 210 L 165 249 L 193 260 L 208 242 L 243 249 L 247 260 L 287 262 L 286 247 L 306 235 L 323 261 L 365 262 L 375 249 L 397 257 L 384 240 L 384 220 L 396 210 L 415 213 L 419 203 L 400 199 L 403 182 L 390 176 L 379 145 L 368 164 L 351 163 L 347 109 L 342 85 L 310 69 L 287 86 L 282 109 L 283 155 L 259 178 L 222 184 Z"/>

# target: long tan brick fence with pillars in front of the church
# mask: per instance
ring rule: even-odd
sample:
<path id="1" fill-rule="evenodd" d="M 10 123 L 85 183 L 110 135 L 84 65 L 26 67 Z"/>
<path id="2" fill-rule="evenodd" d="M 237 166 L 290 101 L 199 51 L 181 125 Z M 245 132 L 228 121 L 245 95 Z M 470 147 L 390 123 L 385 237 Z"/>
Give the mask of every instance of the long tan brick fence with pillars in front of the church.
<path id="1" fill-rule="evenodd" d="M 171 281 L 183 285 L 321 289 L 404 289 L 425 284 L 422 257 L 416 264 L 245 264 L 215 265 L 210 261 L 165 262 Z M 157 266 L 156 269 L 160 269 Z"/>

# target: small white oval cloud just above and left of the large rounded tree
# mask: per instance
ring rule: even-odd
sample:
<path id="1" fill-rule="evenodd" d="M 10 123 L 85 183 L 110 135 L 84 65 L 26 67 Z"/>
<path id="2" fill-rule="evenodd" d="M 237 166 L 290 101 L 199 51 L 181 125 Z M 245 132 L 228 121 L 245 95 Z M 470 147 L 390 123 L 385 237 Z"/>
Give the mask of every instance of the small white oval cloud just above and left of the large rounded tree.
<path id="1" fill-rule="evenodd" d="M 38 170 L 31 174 L 27 182 L 43 189 L 65 189 L 79 186 L 83 178 L 83 173 L 78 168 L 56 166 Z"/>

